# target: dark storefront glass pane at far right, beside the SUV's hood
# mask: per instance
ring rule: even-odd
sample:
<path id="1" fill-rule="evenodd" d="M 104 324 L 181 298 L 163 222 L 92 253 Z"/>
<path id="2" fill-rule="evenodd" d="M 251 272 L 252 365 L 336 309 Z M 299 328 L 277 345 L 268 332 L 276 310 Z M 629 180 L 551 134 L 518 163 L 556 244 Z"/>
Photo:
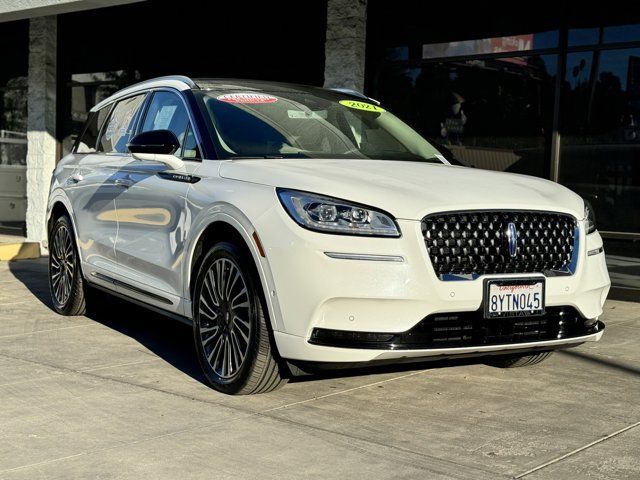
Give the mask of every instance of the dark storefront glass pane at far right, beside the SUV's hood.
<path id="1" fill-rule="evenodd" d="M 600 230 L 640 233 L 640 48 L 570 54 L 561 118 L 560 182 Z"/>

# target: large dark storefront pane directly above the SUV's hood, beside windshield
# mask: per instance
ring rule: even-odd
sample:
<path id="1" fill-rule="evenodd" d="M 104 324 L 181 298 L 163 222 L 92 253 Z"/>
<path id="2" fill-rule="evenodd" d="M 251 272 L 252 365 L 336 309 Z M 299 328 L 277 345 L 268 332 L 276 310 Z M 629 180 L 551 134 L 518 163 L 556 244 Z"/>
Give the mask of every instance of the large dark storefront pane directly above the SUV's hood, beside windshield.
<path id="1" fill-rule="evenodd" d="M 466 165 L 548 176 L 556 55 L 387 68 L 376 92 Z"/>

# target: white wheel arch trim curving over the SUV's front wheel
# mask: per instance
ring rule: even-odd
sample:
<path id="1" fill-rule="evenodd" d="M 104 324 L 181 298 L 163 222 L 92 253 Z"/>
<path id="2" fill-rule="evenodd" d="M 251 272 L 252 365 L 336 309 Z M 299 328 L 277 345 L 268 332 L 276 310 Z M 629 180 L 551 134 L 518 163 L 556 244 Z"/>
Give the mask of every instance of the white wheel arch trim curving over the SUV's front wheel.
<path id="1" fill-rule="evenodd" d="M 258 248 L 252 238 L 256 229 L 247 216 L 237 207 L 226 202 L 218 202 L 210 205 L 208 208 L 198 214 L 198 218 L 193 222 L 191 231 L 189 232 L 189 240 L 185 247 L 186 261 L 183 263 L 183 297 L 185 299 L 185 315 L 191 318 L 191 293 L 189 285 L 191 283 L 191 266 L 193 264 L 194 254 L 198 241 L 202 238 L 204 231 L 209 225 L 215 222 L 224 222 L 232 226 L 242 236 L 243 240 L 249 247 L 253 261 L 258 270 L 260 283 L 264 291 L 271 326 L 274 331 L 282 330 L 282 313 L 278 298 L 275 295 L 275 282 L 271 273 L 271 267 L 266 257 L 261 257 Z M 260 235 L 260 232 L 257 232 Z"/>

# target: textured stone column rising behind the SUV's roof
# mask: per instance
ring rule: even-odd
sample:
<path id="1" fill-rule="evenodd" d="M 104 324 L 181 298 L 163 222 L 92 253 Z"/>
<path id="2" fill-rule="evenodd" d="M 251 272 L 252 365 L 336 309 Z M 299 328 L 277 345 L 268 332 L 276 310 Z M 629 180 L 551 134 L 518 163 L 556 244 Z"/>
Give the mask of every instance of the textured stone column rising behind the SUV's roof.
<path id="1" fill-rule="evenodd" d="M 364 88 L 367 0 L 328 0 L 324 86 Z"/>

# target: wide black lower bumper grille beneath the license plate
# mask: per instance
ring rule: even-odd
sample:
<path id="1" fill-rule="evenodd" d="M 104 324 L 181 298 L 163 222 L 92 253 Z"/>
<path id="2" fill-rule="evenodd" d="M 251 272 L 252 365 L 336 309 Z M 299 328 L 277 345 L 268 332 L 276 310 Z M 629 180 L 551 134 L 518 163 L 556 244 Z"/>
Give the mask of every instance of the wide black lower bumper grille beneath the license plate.
<path id="1" fill-rule="evenodd" d="M 573 307 L 548 307 L 544 315 L 531 317 L 485 319 L 481 311 L 434 314 L 402 333 L 315 328 L 309 341 L 342 348 L 459 348 L 569 339 L 603 328 L 600 322 L 582 318 Z"/>

